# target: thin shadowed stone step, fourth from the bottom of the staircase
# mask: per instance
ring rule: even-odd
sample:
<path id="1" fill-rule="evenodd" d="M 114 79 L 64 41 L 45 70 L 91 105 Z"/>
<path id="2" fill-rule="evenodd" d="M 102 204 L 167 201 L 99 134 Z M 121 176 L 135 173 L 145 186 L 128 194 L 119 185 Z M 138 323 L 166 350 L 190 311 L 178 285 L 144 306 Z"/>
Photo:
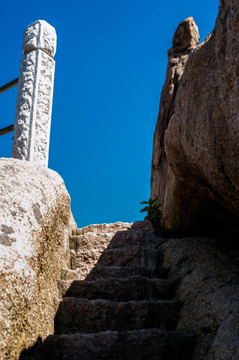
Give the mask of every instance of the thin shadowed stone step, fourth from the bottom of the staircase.
<path id="1" fill-rule="evenodd" d="M 126 267 L 126 266 L 95 266 L 87 275 L 86 280 L 96 280 L 101 278 L 127 278 L 131 276 L 147 276 L 167 279 L 169 268 L 158 267 L 153 271 L 146 267 Z"/>

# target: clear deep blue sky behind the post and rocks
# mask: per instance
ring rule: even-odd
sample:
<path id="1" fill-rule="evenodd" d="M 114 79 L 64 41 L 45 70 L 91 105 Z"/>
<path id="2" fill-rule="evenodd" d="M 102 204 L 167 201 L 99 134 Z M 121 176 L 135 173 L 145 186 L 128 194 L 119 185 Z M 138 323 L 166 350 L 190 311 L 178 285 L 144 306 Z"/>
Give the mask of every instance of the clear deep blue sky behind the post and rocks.
<path id="1" fill-rule="evenodd" d="M 49 167 L 64 179 L 79 227 L 134 221 L 150 195 L 153 133 L 167 49 L 193 16 L 204 40 L 219 0 L 12 0 L 1 4 L 0 85 L 18 77 L 22 35 L 42 19 L 58 43 Z M 0 128 L 17 89 L 0 95 Z M 11 156 L 12 134 L 0 137 Z"/>

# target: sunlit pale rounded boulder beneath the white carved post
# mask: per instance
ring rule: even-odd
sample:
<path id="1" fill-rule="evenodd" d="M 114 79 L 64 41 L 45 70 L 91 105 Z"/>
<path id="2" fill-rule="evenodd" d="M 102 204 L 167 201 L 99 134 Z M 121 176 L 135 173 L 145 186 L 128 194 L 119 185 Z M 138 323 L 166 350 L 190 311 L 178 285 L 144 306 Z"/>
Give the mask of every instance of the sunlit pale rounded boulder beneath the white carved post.
<path id="1" fill-rule="evenodd" d="M 0 159 L 0 202 L 0 357 L 16 360 L 53 333 L 74 222 L 61 177 L 29 162 Z"/>

